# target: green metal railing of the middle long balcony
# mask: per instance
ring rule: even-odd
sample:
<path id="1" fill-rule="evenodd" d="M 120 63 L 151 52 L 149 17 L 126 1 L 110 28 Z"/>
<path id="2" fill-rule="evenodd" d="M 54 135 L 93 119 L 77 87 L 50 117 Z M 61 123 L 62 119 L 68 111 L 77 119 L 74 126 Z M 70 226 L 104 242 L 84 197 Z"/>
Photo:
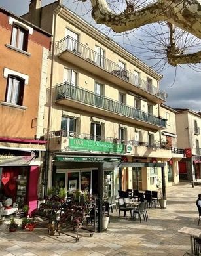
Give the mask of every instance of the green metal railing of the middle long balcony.
<path id="1" fill-rule="evenodd" d="M 71 85 L 70 83 L 62 83 L 57 85 L 56 97 L 57 100 L 61 98 L 70 98 L 72 100 L 76 100 L 77 102 L 84 102 L 90 106 L 96 106 L 98 108 L 132 119 L 166 128 L 166 119 L 153 116 L 147 112 L 138 110 L 137 108 L 132 108 L 115 100 L 111 100 L 110 98 L 106 98 L 105 96 L 96 95 L 92 91 Z"/>

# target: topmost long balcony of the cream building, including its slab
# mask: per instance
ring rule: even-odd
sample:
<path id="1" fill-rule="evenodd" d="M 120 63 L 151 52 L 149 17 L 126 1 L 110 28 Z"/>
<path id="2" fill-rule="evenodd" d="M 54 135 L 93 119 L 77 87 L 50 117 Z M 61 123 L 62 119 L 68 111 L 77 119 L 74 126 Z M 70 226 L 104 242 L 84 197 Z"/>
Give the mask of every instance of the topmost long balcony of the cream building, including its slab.
<path id="1" fill-rule="evenodd" d="M 82 69 L 104 77 L 107 81 L 124 87 L 143 98 L 147 98 L 155 104 L 166 101 L 167 94 L 150 85 L 147 81 L 122 69 L 108 58 L 101 56 L 92 49 L 82 45 L 71 37 L 57 41 L 54 45 L 54 54 L 67 62 L 71 62 Z"/>

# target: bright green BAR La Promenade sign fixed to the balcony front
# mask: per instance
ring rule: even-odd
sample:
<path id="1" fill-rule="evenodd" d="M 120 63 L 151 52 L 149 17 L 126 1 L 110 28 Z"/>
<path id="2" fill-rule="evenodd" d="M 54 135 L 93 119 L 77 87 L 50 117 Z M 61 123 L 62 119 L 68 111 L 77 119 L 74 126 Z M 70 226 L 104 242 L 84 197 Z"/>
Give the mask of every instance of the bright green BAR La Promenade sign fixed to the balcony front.
<path id="1" fill-rule="evenodd" d="M 104 153 L 118 153 L 125 152 L 124 144 L 117 144 L 112 142 L 84 140 L 69 138 L 69 149 L 80 151 L 104 152 Z"/>

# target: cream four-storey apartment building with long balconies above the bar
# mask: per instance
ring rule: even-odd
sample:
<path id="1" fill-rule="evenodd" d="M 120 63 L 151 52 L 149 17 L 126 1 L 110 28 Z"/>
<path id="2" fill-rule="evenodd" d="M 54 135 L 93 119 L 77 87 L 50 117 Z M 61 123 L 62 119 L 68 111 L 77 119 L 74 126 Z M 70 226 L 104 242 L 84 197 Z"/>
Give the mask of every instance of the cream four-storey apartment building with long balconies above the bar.
<path id="1" fill-rule="evenodd" d="M 53 34 L 45 108 L 47 186 L 103 198 L 127 188 L 156 190 L 161 168 L 168 172 L 173 157 L 170 146 L 160 143 L 160 131 L 167 128 L 160 114 L 166 100 L 162 76 L 60 1 L 44 7 L 31 1 L 24 18 Z"/>

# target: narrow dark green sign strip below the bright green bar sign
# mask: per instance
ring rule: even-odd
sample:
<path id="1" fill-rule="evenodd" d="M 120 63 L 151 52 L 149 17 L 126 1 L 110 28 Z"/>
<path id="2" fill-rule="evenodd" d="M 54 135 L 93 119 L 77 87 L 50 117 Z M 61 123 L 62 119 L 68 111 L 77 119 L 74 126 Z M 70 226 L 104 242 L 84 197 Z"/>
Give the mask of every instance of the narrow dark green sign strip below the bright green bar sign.
<path id="1" fill-rule="evenodd" d="M 55 161 L 121 161 L 121 158 L 92 157 L 92 156 L 56 156 Z"/>

